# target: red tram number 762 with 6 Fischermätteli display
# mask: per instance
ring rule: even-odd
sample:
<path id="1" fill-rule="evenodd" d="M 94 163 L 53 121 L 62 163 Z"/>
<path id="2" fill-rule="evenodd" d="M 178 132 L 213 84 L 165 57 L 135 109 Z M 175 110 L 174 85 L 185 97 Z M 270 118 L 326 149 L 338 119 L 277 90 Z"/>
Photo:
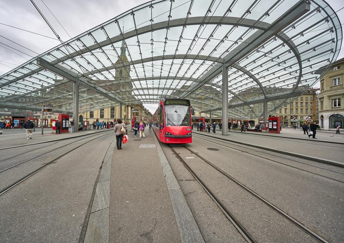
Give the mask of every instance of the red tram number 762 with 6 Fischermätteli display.
<path id="1" fill-rule="evenodd" d="M 153 115 L 153 131 L 163 143 L 183 144 L 192 142 L 191 115 L 194 109 L 189 100 L 160 100 Z"/>

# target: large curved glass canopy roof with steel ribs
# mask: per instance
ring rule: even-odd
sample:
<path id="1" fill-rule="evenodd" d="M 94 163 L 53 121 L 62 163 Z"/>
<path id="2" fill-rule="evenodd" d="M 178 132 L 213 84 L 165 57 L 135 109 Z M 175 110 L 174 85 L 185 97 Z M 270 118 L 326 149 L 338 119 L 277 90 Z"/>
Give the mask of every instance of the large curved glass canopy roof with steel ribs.
<path id="1" fill-rule="evenodd" d="M 318 82 L 341 42 L 322 0 L 150 1 L 0 76 L 0 108 L 72 112 L 78 78 L 79 112 L 179 97 L 221 116 L 224 64 L 229 115 L 258 117 L 252 104 L 277 109 Z"/>

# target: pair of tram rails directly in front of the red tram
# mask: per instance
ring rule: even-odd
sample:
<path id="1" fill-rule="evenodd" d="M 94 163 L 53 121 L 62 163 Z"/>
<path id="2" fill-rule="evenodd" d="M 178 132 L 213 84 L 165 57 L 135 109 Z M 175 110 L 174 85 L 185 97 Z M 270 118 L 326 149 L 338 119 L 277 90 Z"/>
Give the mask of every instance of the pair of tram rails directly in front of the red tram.
<path id="1" fill-rule="evenodd" d="M 212 200 L 216 203 L 216 205 L 221 209 L 221 211 L 225 214 L 225 216 L 227 217 L 227 219 L 234 225 L 234 227 L 239 231 L 239 233 L 245 238 L 245 240 L 247 242 L 256 242 L 254 240 L 254 238 L 252 237 L 252 235 L 245 229 L 245 227 L 239 222 L 239 220 L 237 218 L 235 218 L 233 216 L 232 213 L 230 213 L 230 211 L 228 210 L 228 208 L 226 208 L 226 206 L 224 206 L 224 203 L 221 202 L 221 200 L 218 199 L 218 197 L 215 196 L 215 192 L 213 192 L 211 189 L 209 189 L 209 187 L 202 181 L 202 179 L 200 178 L 200 176 L 197 175 L 197 173 L 195 173 L 195 170 L 193 170 L 186 161 L 185 159 L 180 155 L 180 153 L 178 152 L 178 149 L 180 148 L 174 148 L 172 146 L 170 146 L 171 150 L 173 151 L 173 153 L 179 158 L 179 160 L 183 163 L 183 165 L 187 168 L 187 170 L 189 170 L 189 172 L 192 174 L 192 176 L 197 180 L 197 182 L 202 186 L 202 188 L 207 192 L 207 194 L 212 198 Z M 273 205 L 271 202 L 269 202 L 268 200 L 266 200 L 265 198 L 261 197 L 259 194 L 257 194 L 255 191 L 251 190 L 250 188 L 248 188 L 247 186 L 245 186 L 244 184 L 240 183 L 238 180 L 236 180 L 235 178 L 233 178 L 232 176 L 230 176 L 229 174 L 227 174 L 226 172 L 224 172 L 222 169 L 220 169 L 219 167 L 217 167 L 216 165 L 214 165 L 213 163 L 209 162 L 207 159 L 205 159 L 204 157 L 202 157 L 201 155 L 199 155 L 197 152 L 192 151 L 190 148 L 184 146 L 183 149 L 189 151 L 191 154 L 194 154 L 196 157 L 200 158 L 201 161 L 203 161 L 204 163 L 206 163 L 207 165 L 210 165 L 212 168 L 214 168 L 217 172 L 221 173 L 222 175 L 224 175 L 226 178 L 230 179 L 231 181 L 233 181 L 236 185 L 240 186 L 241 188 L 243 188 L 245 191 L 247 191 L 250 195 L 253 195 L 255 198 L 259 199 L 261 202 L 265 203 L 265 205 L 267 205 L 269 208 L 273 209 L 274 211 L 276 211 L 278 214 L 280 214 L 281 216 L 283 216 L 285 219 L 287 219 L 288 221 L 290 221 L 291 223 L 293 223 L 294 225 L 296 225 L 298 228 L 300 228 L 302 231 L 306 232 L 307 234 L 309 234 L 310 236 L 312 236 L 315 240 L 317 240 L 318 242 L 321 243 L 329 243 L 327 240 L 325 240 L 324 238 L 322 238 L 319 234 L 317 234 L 316 232 L 312 231 L 311 229 L 309 229 L 308 227 L 306 227 L 304 224 L 302 224 L 300 221 L 298 221 L 297 219 L 289 216 L 289 214 L 287 214 L 286 212 L 284 212 L 283 210 L 281 210 L 280 208 L 278 208 L 277 206 Z"/>

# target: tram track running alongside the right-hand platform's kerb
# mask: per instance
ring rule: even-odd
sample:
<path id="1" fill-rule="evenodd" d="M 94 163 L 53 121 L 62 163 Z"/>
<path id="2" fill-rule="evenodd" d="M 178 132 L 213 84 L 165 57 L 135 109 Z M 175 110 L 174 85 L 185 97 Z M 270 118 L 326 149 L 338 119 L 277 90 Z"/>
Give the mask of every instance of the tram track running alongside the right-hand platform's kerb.
<path id="1" fill-rule="evenodd" d="M 195 134 L 194 134 L 195 135 Z M 198 139 L 202 139 L 204 140 L 203 137 L 197 137 L 197 136 L 194 136 Z M 240 150 L 242 151 L 243 150 L 243 146 L 238 146 L 235 144 L 235 142 L 230 142 L 230 141 L 226 141 L 226 143 L 230 144 L 231 146 L 226 146 L 224 143 L 218 143 L 218 142 L 214 142 L 214 141 L 209 141 L 210 140 L 215 140 L 217 141 L 216 139 L 217 138 L 213 138 L 213 137 L 207 137 L 207 141 L 208 142 L 211 142 L 211 143 L 215 143 L 215 144 L 218 144 L 218 145 L 221 145 L 221 146 L 224 146 L 224 147 L 227 147 L 227 148 L 230 148 L 230 149 L 233 149 L 233 150 L 237 150 L 235 148 L 233 148 L 233 146 L 235 147 L 238 147 L 240 148 Z M 314 173 L 314 172 L 311 172 L 309 170 L 305 170 L 305 169 L 302 169 L 302 168 L 299 168 L 299 167 L 296 167 L 296 166 L 292 166 L 292 165 L 288 165 L 288 164 L 285 164 L 283 162 L 278 162 L 276 160 L 273 160 L 273 159 L 270 159 L 270 158 L 267 158 L 267 157 L 264 157 L 264 156 L 260 156 L 260 155 L 257 155 L 255 153 L 251 153 L 250 151 L 256 151 L 258 153 L 262 153 L 262 154 L 266 154 L 266 155 L 269 155 L 269 156 L 274 156 L 274 157 L 278 157 L 278 158 L 281 158 L 281 159 L 287 159 L 289 161 L 293 161 L 293 162 L 297 162 L 297 163 L 301 163 L 301 164 L 304 164 L 304 165 L 308 165 L 308 166 L 313 166 L 313 167 L 316 167 L 316 168 L 320 168 L 320 169 L 324 169 L 324 170 L 327 170 L 329 172 L 333 172 L 333 173 L 338 173 L 338 174 L 341 174 L 341 175 L 344 175 L 343 172 L 340 172 L 340 171 L 337 171 L 337 170 L 333 170 L 333 169 L 329 169 L 329 168 L 325 168 L 325 167 L 322 167 L 322 166 L 318 166 L 318 165 L 314 165 L 314 164 L 310 164 L 310 163 L 306 163 L 306 162 L 302 162 L 302 161 L 298 161 L 298 160 L 295 160 L 295 159 L 292 159 L 292 158 L 287 158 L 287 157 L 284 157 L 284 156 L 279 156 L 279 155 L 276 155 L 276 154 L 271 154 L 271 153 L 267 153 L 267 152 L 263 152 L 263 151 L 259 151 L 259 150 L 255 150 L 253 148 L 248 148 L 246 147 L 246 149 L 248 150 L 245 150 L 244 152 L 245 153 L 248 153 L 248 154 L 251 154 L 253 156 L 256 156 L 256 157 L 259 157 L 259 158 L 263 158 L 263 159 L 267 159 L 269 161 L 272 161 L 272 162 L 275 162 L 275 163 L 278 163 L 278 164 L 282 164 L 282 165 L 285 165 L 285 166 L 288 166 L 288 167 L 291 167 L 291 168 L 295 168 L 295 169 L 298 169 L 298 170 L 301 170 L 301 171 L 304 171 L 304 172 L 308 172 L 308 173 L 311 173 L 313 175 L 317 175 L 317 176 L 321 176 L 321 177 L 324 177 L 324 178 L 327 178 L 327 179 L 330 179 L 330 180 L 334 180 L 334 181 L 337 181 L 337 182 L 340 182 L 340 183 L 344 183 L 343 180 L 337 180 L 337 179 L 334 179 L 334 178 L 331 178 L 331 177 L 328 177 L 328 176 L 324 176 L 324 175 L 321 175 L 321 174 L 318 174 L 318 173 Z"/>

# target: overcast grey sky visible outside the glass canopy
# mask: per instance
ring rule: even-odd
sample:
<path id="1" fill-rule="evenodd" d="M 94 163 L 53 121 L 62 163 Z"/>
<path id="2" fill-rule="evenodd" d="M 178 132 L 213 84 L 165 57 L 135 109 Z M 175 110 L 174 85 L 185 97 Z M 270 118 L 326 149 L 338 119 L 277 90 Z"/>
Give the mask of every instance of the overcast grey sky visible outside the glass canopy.
<path id="1" fill-rule="evenodd" d="M 136 7 L 137 5 L 147 2 L 147 0 L 34 0 L 34 2 L 43 12 L 46 19 L 50 22 L 62 40 L 67 41 L 70 39 L 68 34 L 71 37 L 75 37 L 127 10 L 130 10 L 131 8 Z M 45 7 L 43 2 L 55 15 L 57 20 L 60 21 L 68 34 L 55 20 L 54 16 Z M 343 0 L 328 0 L 327 2 L 335 11 L 340 10 L 343 7 Z M 337 12 L 337 14 L 343 26 L 344 9 Z M 17 42 L 31 50 L 29 51 L 28 49 L 18 46 L 0 36 L 0 42 L 2 43 L 0 43 L 0 75 L 7 73 L 13 68 L 25 63 L 32 57 L 37 56 L 37 53 L 41 54 L 46 52 L 60 43 L 58 40 L 53 39 L 56 38 L 55 35 L 44 22 L 43 18 L 39 15 L 30 0 L 0 0 L 0 23 L 1 36 Z M 39 33 L 52 38 L 14 29 L 3 24 L 15 26 L 20 29 Z M 6 45 L 14 47 L 28 55 L 15 51 Z M 6 48 L 11 49 L 20 55 L 13 53 Z M 342 44 L 342 49 L 338 59 L 343 57 L 344 48 Z M 156 104 L 147 104 L 145 106 L 152 113 L 157 107 Z"/>

